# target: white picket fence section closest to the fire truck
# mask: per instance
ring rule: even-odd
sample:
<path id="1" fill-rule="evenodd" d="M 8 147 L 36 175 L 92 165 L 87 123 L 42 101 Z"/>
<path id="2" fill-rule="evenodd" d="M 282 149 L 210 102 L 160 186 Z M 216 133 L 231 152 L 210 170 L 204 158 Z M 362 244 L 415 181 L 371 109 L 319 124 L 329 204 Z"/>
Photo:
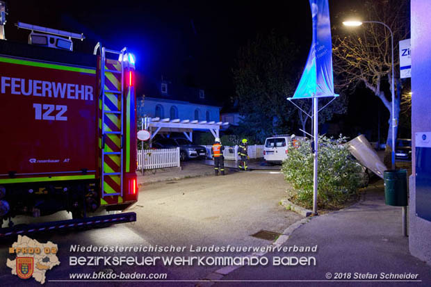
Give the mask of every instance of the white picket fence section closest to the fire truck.
<path id="1" fill-rule="evenodd" d="M 138 170 L 179 166 L 179 147 L 176 149 L 138 150 Z"/>

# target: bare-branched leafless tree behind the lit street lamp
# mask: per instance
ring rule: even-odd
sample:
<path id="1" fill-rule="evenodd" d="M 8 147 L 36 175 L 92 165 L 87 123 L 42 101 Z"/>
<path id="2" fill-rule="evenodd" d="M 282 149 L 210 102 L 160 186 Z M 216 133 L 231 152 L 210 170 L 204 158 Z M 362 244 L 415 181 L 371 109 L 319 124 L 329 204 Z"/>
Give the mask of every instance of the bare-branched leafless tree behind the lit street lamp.
<path id="1" fill-rule="evenodd" d="M 395 70 L 395 114 L 391 102 L 391 33 L 382 24 L 364 23 L 352 28 L 334 27 L 333 56 L 336 88 L 348 92 L 364 83 L 378 97 L 398 122 L 401 81 L 399 76 L 398 42 L 409 38 L 409 0 L 364 1 L 362 21 L 383 22 L 393 32 L 393 65 Z M 342 16 L 339 16 L 341 18 Z M 343 19 L 340 19 L 343 21 Z M 341 25 L 340 21 L 340 25 Z M 387 145 L 392 140 L 389 120 Z"/>

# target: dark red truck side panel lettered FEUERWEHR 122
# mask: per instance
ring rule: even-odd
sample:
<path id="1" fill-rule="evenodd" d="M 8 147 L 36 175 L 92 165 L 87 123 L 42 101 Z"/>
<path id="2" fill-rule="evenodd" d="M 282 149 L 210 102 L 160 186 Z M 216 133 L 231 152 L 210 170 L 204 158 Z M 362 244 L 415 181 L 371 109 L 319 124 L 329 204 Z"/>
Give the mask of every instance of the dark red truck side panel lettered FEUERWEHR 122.
<path id="1" fill-rule="evenodd" d="M 0 174 L 97 170 L 97 56 L 0 40 Z"/>

